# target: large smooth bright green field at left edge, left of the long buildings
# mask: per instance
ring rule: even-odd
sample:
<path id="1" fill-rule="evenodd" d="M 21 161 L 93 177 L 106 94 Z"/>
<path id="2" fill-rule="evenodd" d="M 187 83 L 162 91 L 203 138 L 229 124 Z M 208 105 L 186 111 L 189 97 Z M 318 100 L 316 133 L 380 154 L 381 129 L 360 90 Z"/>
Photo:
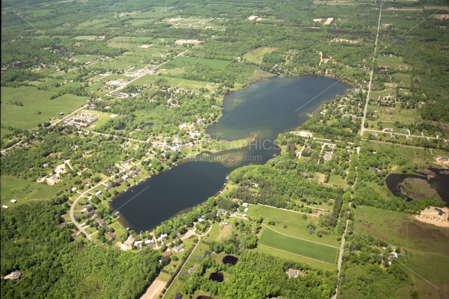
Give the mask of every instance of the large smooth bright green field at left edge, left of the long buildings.
<path id="1" fill-rule="evenodd" d="M 31 129 L 58 117 L 61 112 L 67 115 L 86 103 L 86 98 L 73 94 L 50 100 L 54 94 L 36 89 L 1 87 L 1 125 Z M 22 102 L 23 106 L 8 104 L 10 101 Z"/>

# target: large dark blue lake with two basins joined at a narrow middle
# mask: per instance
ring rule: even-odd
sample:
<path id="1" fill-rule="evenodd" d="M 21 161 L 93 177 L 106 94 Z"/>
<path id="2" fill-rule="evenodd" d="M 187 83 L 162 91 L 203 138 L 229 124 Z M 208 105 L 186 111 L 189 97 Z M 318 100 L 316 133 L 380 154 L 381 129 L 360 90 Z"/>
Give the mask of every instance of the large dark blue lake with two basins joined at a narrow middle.
<path id="1" fill-rule="evenodd" d="M 196 160 L 183 160 L 171 170 L 164 170 L 121 193 L 110 207 L 119 210 L 119 222 L 124 227 L 134 231 L 153 229 L 215 196 L 223 189 L 226 174 L 237 167 L 261 165 L 273 158 L 279 153 L 273 144 L 278 134 L 297 129 L 323 101 L 332 100 L 350 88 L 351 85 L 330 77 L 300 76 L 272 77 L 249 84 L 247 89 L 230 92 L 223 100 L 223 116 L 206 132 L 212 139 L 221 140 L 256 134 L 252 144 L 218 154 L 202 153 Z"/>

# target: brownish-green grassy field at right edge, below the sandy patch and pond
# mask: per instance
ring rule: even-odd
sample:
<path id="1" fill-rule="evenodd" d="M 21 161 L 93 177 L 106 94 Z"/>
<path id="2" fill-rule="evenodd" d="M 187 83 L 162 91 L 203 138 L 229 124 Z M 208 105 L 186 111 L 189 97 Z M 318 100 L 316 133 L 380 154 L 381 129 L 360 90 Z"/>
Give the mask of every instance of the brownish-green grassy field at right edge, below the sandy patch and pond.
<path id="1" fill-rule="evenodd" d="M 420 298 L 446 298 L 449 293 L 447 228 L 419 222 L 403 212 L 358 206 L 354 229 L 405 249 L 398 260 L 439 288 L 434 288 L 417 274 L 408 271 Z"/>

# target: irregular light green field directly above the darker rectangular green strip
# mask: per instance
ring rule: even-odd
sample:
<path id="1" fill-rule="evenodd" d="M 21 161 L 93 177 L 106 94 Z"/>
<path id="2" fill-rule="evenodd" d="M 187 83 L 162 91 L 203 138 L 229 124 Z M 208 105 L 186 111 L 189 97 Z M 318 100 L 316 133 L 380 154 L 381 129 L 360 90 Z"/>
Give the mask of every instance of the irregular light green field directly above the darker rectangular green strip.
<path id="1" fill-rule="evenodd" d="M 264 222 L 267 218 L 270 218 L 275 222 L 275 225 L 271 225 L 275 231 L 279 231 L 282 234 L 287 234 L 289 236 L 297 236 L 299 238 L 306 238 L 307 240 L 329 244 L 332 246 L 339 246 L 339 241 L 335 239 L 332 232 L 329 234 L 324 234 L 320 238 L 315 234 L 308 235 L 307 224 L 312 221 L 313 223 L 318 222 L 318 217 L 307 216 L 307 220 L 302 218 L 303 214 L 297 212 L 289 212 L 286 210 L 279 210 L 276 208 L 269 208 L 263 205 L 250 205 L 247 215 L 252 217 L 263 217 Z M 283 224 L 287 227 L 284 228 Z"/>

